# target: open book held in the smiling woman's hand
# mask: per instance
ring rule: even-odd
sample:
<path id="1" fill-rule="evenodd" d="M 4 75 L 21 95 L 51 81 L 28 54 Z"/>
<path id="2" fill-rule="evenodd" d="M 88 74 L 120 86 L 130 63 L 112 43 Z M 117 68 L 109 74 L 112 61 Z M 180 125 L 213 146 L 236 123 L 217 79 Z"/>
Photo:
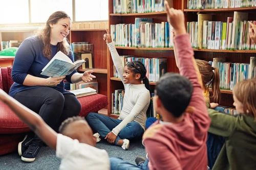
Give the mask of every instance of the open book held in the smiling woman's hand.
<path id="1" fill-rule="evenodd" d="M 72 60 L 59 51 L 51 59 L 51 61 L 42 69 L 41 75 L 49 77 L 61 77 L 70 75 L 76 68 L 86 61 L 77 60 L 74 63 Z"/>

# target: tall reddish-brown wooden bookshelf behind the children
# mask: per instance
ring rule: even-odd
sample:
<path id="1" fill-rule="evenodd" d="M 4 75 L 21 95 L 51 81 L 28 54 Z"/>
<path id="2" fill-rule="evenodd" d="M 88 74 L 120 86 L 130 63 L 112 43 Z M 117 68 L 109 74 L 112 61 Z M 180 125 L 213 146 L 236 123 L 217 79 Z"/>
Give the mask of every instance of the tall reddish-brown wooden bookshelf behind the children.
<path id="1" fill-rule="evenodd" d="M 234 11 L 248 12 L 248 20 L 256 20 L 256 7 L 245 8 L 222 8 L 222 9 L 187 9 L 188 0 L 174 0 L 173 7 L 175 9 L 181 9 L 185 15 L 185 25 L 190 21 L 198 21 L 197 13 L 211 14 L 212 21 L 227 21 L 227 17 L 233 17 Z M 109 0 L 109 29 L 110 25 L 116 25 L 118 23 L 134 23 L 135 17 L 153 18 L 154 23 L 160 23 L 166 20 L 166 12 L 151 12 L 151 13 L 131 13 L 131 14 L 119 14 L 113 12 L 113 0 Z M 167 71 L 178 72 L 176 67 L 173 48 L 145 48 L 145 47 L 125 47 L 116 46 L 119 55 L 133 55 L 136 57 L 164 57 L 167 58 Z M 250 57 L 256 53 L 256 50 L 211 50 L 211 49 L 197 49 L 194 48 L 195 58 L 203 60 L 211 60 L 213 58 L 225 57 L 227 62 L 239 62 L 249 63 Z M 115 89 L 123 88 L 120 79 L 115 78 L 113 74 L 113 61 L 111 54 L 108 51 L 108 115 L 116 118 L 118 115 L 111 113 L 111 94 Z M 156 82 L 150 82 L 152 90 L 154 90 Z M 211 89 L 210 89 L 211 91 Z M 232 106 L 232 91 L 221 90 L 221 105 Z"/>

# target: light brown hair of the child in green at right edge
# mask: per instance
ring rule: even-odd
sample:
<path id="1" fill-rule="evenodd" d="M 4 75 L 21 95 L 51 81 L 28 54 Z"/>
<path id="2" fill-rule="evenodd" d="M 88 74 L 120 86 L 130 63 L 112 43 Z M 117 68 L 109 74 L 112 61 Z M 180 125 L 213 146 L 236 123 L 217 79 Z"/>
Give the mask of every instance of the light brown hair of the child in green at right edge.
<path id="1" fill-rule="evenodd" d="M 233 95 L 244 105 L 244 114 L 256 121 L 256 78 L 243 80 L 233 87 Z"/>

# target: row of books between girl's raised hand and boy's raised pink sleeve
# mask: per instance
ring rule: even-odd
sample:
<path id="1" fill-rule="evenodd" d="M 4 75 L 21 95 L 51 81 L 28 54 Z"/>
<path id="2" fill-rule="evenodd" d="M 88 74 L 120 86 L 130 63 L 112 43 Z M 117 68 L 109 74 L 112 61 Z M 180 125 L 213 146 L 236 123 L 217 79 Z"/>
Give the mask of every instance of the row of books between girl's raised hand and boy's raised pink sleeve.
<path id="1" fill-rule="evenodd" d="M 135 18 L 135 24 L 111 25 L 111 37 L 117 46 L 173 47 L 172 26 L 153 23 L 152 18 Z"/>

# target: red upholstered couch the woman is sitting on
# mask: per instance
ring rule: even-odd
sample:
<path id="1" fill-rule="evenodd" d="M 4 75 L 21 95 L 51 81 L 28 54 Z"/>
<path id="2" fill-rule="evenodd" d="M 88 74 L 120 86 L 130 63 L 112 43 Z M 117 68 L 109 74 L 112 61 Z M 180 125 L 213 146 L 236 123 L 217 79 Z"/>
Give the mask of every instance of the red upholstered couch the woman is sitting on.
<path id="1" fill-rule="evenodd" d="M 12 66 L 0 69 L 0 88 L 7 93 L 13 84 L 11 70 Z M 77 99 L 82 106 L 79 116 L 86 116 L 90 112 L 98 112 L 98 110 L 108 105 L 107 96 L 102 94 L 93 94 Z M 6 104 L 0 101 L 0 155 L 17 150 L 18 142 L 29 131 L 28 126 Z"/>

